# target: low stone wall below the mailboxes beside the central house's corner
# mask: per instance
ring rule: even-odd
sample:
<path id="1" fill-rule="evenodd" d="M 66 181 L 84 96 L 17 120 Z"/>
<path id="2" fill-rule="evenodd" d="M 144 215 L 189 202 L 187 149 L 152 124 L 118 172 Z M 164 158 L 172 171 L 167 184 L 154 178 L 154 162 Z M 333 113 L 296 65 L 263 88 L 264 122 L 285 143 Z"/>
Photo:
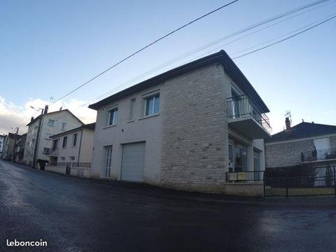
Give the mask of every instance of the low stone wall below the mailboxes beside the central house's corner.
<path id="1" fill-rule="evenodd" d="M 263 183 L 225 183 L 224 194 L 232 196 L 263 197 Z"/>

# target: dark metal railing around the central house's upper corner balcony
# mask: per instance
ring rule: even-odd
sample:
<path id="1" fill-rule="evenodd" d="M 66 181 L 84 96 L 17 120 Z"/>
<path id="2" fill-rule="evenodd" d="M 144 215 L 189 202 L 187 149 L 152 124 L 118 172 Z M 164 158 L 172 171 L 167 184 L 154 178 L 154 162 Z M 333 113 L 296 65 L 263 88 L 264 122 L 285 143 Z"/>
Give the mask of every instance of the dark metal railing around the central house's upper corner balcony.
<path id="1" fill-rule="evenodd" d="M 246 94 L 228 98 L 228 118 L 254 118 L 266 132 L 272 133 L 269 118 Z"/>

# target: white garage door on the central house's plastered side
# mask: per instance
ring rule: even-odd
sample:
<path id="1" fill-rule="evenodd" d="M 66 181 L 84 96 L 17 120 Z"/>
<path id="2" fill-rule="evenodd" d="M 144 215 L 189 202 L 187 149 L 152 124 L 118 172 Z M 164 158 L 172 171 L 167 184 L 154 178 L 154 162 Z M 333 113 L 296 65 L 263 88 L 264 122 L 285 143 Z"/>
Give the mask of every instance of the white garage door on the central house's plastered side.
<path id="1" fill-rule="evenodd" d="M 121 164 L 121 180 L 144 181 L 145 143 L 125 144 Z"/>

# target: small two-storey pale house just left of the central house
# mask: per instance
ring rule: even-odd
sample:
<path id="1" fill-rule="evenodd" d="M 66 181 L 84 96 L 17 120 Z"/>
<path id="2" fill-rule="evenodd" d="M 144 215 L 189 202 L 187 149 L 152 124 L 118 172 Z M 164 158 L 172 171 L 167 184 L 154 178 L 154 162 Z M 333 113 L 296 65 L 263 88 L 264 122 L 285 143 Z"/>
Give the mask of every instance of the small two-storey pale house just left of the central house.
<path id="1" fill-rule="evenodd" d="M 82 125 L 73 130 L 61 132 L 50 137 L 50 163 L 45 170 L 74 176 L 90 177 L 95 123 Z"/>

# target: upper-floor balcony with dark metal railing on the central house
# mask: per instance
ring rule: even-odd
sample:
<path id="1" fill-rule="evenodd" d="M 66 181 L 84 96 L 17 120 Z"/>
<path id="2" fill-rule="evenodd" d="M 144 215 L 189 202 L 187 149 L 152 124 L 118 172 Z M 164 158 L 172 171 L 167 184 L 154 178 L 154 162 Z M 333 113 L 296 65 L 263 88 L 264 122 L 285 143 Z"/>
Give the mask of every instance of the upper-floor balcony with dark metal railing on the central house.
<path id="1" fill-rule="evenodd" d="M 228 98 L 228 124 L 250 139 L 271 137 L 269 119 L 246 94 Z"/>

